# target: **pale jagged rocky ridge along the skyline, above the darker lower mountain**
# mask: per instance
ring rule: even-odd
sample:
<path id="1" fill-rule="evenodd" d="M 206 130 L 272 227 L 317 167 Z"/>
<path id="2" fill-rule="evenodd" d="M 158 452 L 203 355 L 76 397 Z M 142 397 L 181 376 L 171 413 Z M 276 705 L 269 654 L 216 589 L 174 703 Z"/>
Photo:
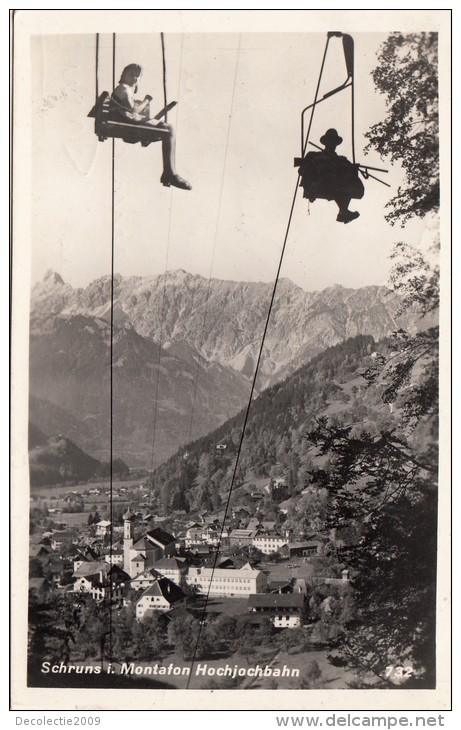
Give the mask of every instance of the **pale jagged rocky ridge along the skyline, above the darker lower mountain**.
<path id="1" fill-rule="evenodd" d="M 40 331 L 50 315 L 107 319 L 109 276 L 74 289 L 62 278 L 36 284 L 31 324 Z M 114 321 L 144 337 L 170 345 L 187 341 L 206 360 L 230 365 L 251 378 L 269 311 L 273 283 L 207 280 L 184 270 L 157 276 L 114 277 Z M 398 298 L 386 287 L 350 289 L 336 284 L 306 292 L 289 279 L 274 298 L 258 387 L 293 372 L 306 357 L 356 334 L 380 339 L 400 325 Z M 411 319 L 411 317 L 410 317 Z M 401 318 L 408 325 L 409 317 Z"/>

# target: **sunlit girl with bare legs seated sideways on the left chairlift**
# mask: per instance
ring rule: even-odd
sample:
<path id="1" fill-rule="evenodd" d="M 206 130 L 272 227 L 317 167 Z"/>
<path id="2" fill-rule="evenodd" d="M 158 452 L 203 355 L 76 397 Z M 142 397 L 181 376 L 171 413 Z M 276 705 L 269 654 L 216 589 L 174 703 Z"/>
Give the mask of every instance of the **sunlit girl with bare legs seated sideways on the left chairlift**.
<path id="1" fill-rule="evenodd" d="M 138 82 L 142 68 L 137 63 L 130 63 L 123 69 L 118 86 L 111 96 L 111 116 L 128 124 L 146 124 L 168 131 L 162 135 L 163 174 L 160 178 L 162 185 L 182 190 L 191 190 L 192 186 L 180 177 L 175 170 L 175 133 L 171 124 L 161 122 L 150 117 L 150 102 L 152 97 L 146 94 L 143 101 L 135 99 L 138 92 Z"/>

